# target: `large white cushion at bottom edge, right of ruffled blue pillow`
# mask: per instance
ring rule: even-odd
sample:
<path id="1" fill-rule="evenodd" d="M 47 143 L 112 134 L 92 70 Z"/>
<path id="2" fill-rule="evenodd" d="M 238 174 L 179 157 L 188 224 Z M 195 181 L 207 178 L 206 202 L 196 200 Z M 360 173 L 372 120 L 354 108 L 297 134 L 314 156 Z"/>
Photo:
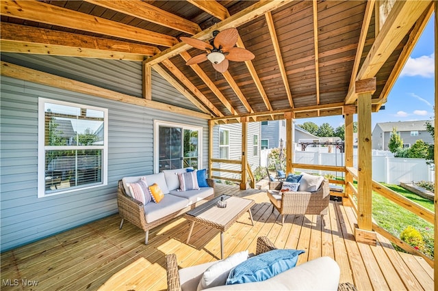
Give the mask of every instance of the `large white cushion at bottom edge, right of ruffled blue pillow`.
<path id="1" fill-rule="evenodd" d="M 339 285 L 340 269 L 329 257 L 317 258 L 266 281 L 218 286 L 205 290 L 333 290 Z"/>

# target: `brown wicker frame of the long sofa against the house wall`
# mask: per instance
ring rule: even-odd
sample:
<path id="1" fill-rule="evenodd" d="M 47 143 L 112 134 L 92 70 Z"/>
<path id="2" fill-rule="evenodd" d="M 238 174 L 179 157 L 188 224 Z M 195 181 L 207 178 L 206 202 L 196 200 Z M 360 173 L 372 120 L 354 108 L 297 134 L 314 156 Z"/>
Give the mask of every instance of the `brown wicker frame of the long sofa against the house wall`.
<path id="1" fill-rule="evenodd" d="M 209 186 L 214 188 L 214 180 L 207 179 L 207 183 Z M 120 217 L 122 218 L 122 221 L 120 222 L 120 229 L 123 226 L 123 222 L 125 219 L 132 223 L 133 225 L 136 225 L 137 227 L 140 227 L 140 229 L 144 230 L 145 238 L 144 238 L 144 244 L 148 244 L 149 240 L 149 230 L 153 229 L 154 227 L 158 225 L 162 225 L 163 223 L 170 221 L 170 219 L 173 219 L 175 217 L 178 217 L 179 215 L 188 212 L 188 210 L 191 210 L 195 208 L 196 206 L 199 206 L 210 199 L 213 199 L 214 195 L 211 195 L 209 197 L 206 197 L 205 199 L 202 199 L 190 206 L 187 206 L 181 210 L 178 210 L 177 212 L 173 212 L 172 214 L 169 214 L 165 217 L 162 217 L 160 219 L 157 219 L 155 221 L 152 221 L 151 223 L 146 222 L 146 217 L 144 215 L 144 206 L 142 202 L 139 202 L 138 200 L 134 199 L 131 196 L 128 196 L 125 192 L 125 187 L 123 186 L 122 180 L 118 181 L 118 190 L 117 190 L 117 206 L 118 206 L 118 213 L 120 214 Z"/>

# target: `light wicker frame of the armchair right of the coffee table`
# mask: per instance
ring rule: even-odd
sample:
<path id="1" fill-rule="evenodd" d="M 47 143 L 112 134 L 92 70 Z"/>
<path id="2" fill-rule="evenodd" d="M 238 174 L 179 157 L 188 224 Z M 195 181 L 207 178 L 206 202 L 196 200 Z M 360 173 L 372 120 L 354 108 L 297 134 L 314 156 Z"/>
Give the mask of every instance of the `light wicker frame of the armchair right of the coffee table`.
<path id="1" fill-rule="evenodd" d="M 289 191 L 281 193 L 283 182 L 269 182 L 268 197 L 272 203 L 272 212 L 279 210 L 281 223 L 285 223 L 286 214 L 327 214 L 330 202 L 329 180 L 324 179 L 320 188 L 313 192 Z"/>

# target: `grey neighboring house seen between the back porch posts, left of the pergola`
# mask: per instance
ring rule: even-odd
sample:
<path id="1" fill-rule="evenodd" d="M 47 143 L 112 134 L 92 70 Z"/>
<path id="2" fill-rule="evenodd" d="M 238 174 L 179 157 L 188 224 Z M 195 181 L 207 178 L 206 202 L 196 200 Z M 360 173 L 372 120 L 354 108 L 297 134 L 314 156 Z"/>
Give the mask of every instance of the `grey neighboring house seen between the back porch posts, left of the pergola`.
<path id="1" fill-rule="evenodd" d="M 279 148 L 280 139 L 286 141 L 286 122 L 285 120 L 265 121 L 261 123 L 261 150 L 268 148 Z M 294 143 L 300 140 L 318 140 L 319 137 L 312 135 L 307 130 L 294 124 Z M 285 146 L 285 143 L 284 145 Z"/>

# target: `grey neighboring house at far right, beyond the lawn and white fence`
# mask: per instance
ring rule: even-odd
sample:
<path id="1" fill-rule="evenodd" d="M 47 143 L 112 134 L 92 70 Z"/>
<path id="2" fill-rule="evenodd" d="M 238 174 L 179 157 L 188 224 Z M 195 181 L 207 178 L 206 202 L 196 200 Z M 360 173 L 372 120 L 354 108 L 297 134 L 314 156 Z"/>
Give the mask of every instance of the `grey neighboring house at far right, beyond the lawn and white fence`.
<path id="1" fill-rule="evenodd" d="M 372 130 L 373 150 L 389 150 L 388 143 L 392 135 L 392 129 L 396 128 L 398 135 L 403 141 L 403 148 L 411 148 L 418 139 L 426 143 L 433 143 L 433 137 L 426 130 L 426 122 L 419 120 L 409 122 L 381 122 Z M 433 121 L 431 121 L 433 123 Z"/>

